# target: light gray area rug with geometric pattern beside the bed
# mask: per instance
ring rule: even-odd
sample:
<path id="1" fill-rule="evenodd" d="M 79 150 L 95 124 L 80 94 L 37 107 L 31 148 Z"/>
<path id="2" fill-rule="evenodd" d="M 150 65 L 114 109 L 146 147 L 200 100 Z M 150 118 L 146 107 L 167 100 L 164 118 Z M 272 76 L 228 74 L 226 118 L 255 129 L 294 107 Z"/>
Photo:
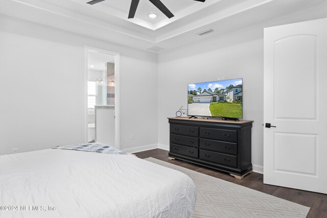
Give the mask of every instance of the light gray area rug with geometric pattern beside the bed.
<path id="1" fill-rule="evenodd" d="M 155 158 L 146 160 L 176 169 L 194 181 L 197 189 L 194 218 L 306 217 L 305 207 L 266 193 L 208 176 Z"/>

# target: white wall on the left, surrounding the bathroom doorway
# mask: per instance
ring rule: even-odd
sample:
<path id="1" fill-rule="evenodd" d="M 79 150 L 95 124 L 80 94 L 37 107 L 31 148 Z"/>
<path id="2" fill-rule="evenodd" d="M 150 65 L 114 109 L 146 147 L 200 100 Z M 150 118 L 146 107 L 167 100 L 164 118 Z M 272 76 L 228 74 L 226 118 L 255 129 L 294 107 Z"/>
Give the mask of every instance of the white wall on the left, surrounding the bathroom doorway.
<path id="1" fill-rule="evenodd" d="M 157 143 L 157 55 L 0 15 L 0 155 L 85 141 L 85 45 L 121 54 L 121 149 Z"/>

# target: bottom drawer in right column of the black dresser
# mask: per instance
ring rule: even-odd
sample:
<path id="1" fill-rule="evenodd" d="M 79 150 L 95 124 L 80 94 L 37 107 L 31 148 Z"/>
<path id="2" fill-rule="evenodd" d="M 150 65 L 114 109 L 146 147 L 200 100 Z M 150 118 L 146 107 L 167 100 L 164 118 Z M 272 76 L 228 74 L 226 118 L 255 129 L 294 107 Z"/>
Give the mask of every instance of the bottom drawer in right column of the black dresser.
<path id="1" fill-rule="evenodd" d="M 237 157 L 228 155 L 228 154 L 221 154 L 218 152 L 211 152 L 211 151 L 205 151 L 201 150 L 200 153 L 200 159 L 202 160 L 208 160 L 215 163 L 220 163 L 232 167 L 237 167 Z"/>

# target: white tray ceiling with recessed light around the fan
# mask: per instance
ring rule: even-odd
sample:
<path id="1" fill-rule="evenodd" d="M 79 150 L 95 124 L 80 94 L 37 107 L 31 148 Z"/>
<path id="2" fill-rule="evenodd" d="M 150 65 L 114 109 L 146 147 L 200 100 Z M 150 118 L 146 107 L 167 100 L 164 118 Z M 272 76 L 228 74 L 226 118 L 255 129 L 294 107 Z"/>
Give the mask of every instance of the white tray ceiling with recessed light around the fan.
<path id="1" fill-rule="evenodd" d="M 89 0 L 2 0 L 0 13 L 158 53 L 318 5 L 326 8 L 326 1 L 161 0 L 175 15 L 169 19 L 148 0 L 140 0 L 135 17 L 128 19 L 131 0 L 95 5 L 86 4 Z M 323 12 L 307 17 L 322 18 Z M 158 16 L 152 19 L 149 13 Z M 212 31 L 196 34 L 206 29 Z"/>

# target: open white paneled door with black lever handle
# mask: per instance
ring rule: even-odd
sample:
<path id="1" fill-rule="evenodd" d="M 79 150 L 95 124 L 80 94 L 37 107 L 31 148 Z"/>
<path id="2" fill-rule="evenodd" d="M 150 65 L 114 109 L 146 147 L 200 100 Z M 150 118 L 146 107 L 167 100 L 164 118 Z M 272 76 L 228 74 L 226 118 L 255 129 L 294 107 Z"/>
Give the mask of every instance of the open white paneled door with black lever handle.
<path id="1" fill-rule="evenodd" d="M 326 94 L 327 19 L 266 28 L 265 184 L 327 193 Z"/>

